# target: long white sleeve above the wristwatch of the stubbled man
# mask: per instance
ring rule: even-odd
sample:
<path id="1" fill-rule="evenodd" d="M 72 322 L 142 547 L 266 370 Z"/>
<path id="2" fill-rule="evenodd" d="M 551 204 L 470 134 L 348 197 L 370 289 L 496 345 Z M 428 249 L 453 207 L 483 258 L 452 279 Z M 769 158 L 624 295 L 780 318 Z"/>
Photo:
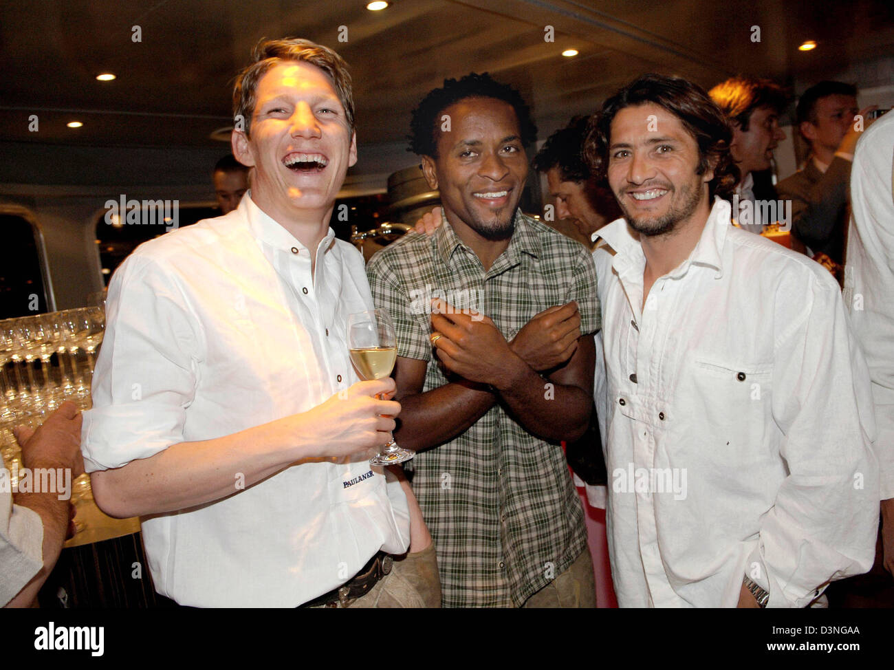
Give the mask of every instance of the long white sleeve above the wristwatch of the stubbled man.
<path id="1" fill-rule="evenodd" d="M 814 281 L 800 318 L 776 318 L 791 324 L 778 335 L 772 380 L 789 474 L 746 572 L 769 589 L 769 606 L 803 607 L 827 582 L 872 567 L 879 474 L 868 371 L 838 287 Z"/>

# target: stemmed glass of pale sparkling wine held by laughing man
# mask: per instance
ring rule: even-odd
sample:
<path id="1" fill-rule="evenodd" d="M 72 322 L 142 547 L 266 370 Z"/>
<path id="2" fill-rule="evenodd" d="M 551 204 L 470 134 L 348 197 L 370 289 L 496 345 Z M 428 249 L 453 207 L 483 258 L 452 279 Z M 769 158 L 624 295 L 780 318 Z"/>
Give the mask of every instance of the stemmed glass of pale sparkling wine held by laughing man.
<path id="1" fill-rule="evenodd" d="M 350 360 L 360 377 L 383 379 L 391 375 L 394 361 L 397 360 L 397 339 L 388 312 L 368 310 L 351 314 L 348 317 L 348 349 Z M 392 437 L 369 462 L 373 465 L 396 465 L 409 461 L 414 455 L 415 452 L 398 446 Z"/>

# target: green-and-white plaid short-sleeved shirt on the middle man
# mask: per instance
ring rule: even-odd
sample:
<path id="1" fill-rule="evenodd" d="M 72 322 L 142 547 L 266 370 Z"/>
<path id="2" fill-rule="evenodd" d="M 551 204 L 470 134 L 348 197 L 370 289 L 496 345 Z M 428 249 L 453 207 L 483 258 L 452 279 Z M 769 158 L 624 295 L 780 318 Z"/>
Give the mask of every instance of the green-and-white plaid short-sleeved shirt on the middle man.
<path id="1" fill-rule="evenodd" d="M 367 266 L 398 355 L 428 361 L 424 392 L 448 383 L 429 341 L 431 298 L 485 314 L 507 340 L 538 312 L 572 300 L 581 332 L 599 329 L 595 267 L 583 245 L 519 212 L 509 248 L 485 272 L 442 221 L 431 236 L 407 233 Z M 586 547 L 561 447 L 530 435 L 499 403 L 406 465 L 437 549 L 443 606 L 520 606 Z"/>

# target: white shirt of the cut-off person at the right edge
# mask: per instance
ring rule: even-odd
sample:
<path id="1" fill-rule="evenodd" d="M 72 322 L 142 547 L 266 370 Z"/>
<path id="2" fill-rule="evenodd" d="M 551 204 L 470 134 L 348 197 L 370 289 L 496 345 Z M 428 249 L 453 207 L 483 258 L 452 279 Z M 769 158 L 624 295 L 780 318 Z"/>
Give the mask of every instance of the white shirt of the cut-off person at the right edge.
<path id="1" fill-rule="evenodd" d="M 856 145 L 845 303 L 873 379 L 881 499 L 894 497 L 894 113 Z"/>

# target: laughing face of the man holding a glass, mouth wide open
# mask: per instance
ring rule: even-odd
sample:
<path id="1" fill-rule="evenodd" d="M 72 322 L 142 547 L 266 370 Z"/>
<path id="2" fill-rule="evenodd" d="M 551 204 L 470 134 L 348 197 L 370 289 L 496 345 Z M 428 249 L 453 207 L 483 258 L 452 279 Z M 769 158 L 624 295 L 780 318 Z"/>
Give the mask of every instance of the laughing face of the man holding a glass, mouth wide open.
<path id="1" fill-rule="evenodd" d="M 357 140 L 333 83 L 316 65 L 275 64 L 257 83 L 251 137 L 233 131 L 233 155 L 256 168 L 251 198 L 280 222 L 323 220 Z"/>

